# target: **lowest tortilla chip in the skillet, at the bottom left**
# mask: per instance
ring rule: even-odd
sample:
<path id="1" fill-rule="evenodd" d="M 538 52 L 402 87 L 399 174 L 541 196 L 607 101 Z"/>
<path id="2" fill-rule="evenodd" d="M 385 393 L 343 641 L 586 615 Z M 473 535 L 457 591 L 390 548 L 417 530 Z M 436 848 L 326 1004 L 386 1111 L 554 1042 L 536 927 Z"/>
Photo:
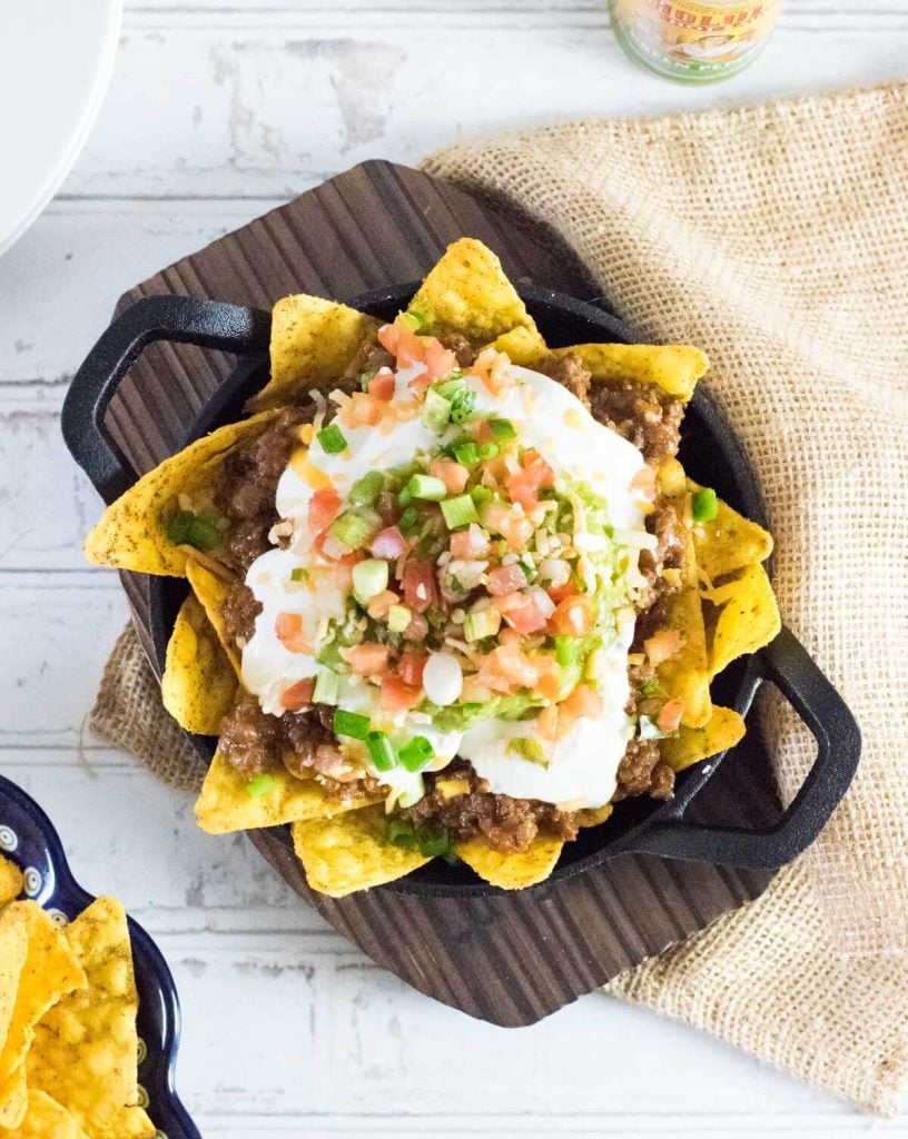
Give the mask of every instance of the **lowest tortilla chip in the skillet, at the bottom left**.
<path id="1" fill-rule="evenodd" d="M 384 842 L 382 804 L 350 811 L 336 819 L 310 819 L 293 825 L 293 849 L 312 890 L 344 898 L 394 882 L 430 861 L 415 850 Z"/>

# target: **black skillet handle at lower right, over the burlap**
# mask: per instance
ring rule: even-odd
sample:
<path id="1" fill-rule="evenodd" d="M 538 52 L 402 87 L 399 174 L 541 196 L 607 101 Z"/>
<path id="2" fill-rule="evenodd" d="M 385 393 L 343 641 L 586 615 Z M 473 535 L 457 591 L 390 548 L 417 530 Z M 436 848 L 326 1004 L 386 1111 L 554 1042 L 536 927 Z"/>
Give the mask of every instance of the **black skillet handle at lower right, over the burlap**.
<path id="1" fill-rule="evenodd" d="M 760 654 L 762 680 L 782 691 L 817 740 L 817 757 L 778 822 L 763 830 L 660 822 L 644 827 L 622 851 L 775 869 L 813 842 L 848 790 L 860 759 L 860 731 L 845 702 L 788 629 Z"/>

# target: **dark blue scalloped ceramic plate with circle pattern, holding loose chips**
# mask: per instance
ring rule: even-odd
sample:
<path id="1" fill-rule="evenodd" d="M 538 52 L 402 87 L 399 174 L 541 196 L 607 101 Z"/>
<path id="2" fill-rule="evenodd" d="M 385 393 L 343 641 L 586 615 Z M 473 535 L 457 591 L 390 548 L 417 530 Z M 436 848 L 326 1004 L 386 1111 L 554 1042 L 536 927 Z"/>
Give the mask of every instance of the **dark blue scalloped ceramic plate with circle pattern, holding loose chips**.
<path id="1" fill-rule="evenodd" d="M 65 925 L 95 899 L 73 878 L 59 835 L 38 803 L 0 776 L 0 853 L 25 876 L 25 896 Z M 140 1103 L 157 1139 L 202 1139 L 174 1087 L 180 1003 L 170 969 L 145 929 L 129 919 L 139 990 Z"/>

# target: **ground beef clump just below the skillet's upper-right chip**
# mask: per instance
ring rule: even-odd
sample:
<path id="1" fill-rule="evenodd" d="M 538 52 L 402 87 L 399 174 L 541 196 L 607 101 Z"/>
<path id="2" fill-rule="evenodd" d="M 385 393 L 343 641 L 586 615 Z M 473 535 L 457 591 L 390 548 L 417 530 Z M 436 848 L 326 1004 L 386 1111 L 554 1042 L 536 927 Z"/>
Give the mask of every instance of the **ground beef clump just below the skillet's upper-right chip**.
<path id="1" fill-rule="evenodd" d="M 591 410 L 599 423 L 633 443 L 651 466 L 678 453 L 684 405 L 660 388 L 632 380 L 596 384 Z"/>

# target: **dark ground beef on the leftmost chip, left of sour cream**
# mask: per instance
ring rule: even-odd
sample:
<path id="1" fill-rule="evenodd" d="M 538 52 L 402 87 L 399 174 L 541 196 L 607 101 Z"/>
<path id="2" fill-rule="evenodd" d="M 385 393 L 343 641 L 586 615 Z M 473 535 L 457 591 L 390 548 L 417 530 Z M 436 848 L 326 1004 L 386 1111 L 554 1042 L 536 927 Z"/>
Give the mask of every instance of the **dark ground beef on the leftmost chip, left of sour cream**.
<path id="1" fill-rule="evenodd" d="M 268 533 L 278 521 L 278 480 L 300 442 L 296 428 L 311 419 L 310 408 L 286 408 L 257 439 L 227 457 L 214 492 L 214 505 L 230 522 L 228 557 L 246 570 L 271 548 Z"/>

